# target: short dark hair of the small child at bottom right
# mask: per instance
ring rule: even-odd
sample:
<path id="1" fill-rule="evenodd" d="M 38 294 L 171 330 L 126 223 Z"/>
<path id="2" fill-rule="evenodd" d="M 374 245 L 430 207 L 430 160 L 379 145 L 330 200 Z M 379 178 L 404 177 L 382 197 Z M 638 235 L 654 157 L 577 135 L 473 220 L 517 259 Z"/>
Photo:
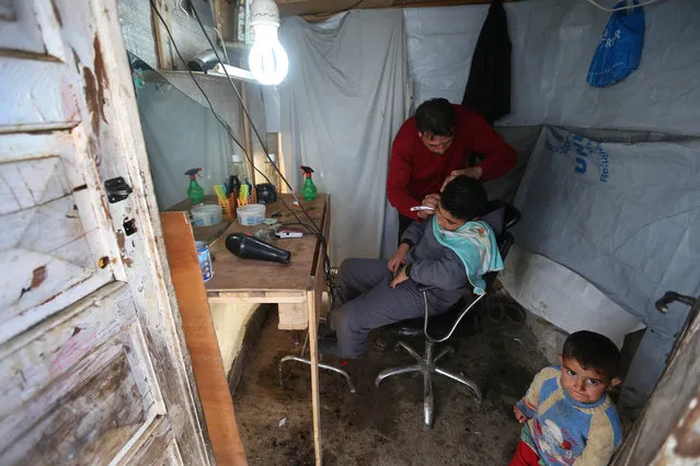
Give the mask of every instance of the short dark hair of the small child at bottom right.
<path id="1" fill-rule="evenodd" d="M 575 359 L 582 368 L 612 378 L 618 375 L 620 350 L 608 337 L 595 331 L 582 330 L 566 338 L 562 358 Z"/>

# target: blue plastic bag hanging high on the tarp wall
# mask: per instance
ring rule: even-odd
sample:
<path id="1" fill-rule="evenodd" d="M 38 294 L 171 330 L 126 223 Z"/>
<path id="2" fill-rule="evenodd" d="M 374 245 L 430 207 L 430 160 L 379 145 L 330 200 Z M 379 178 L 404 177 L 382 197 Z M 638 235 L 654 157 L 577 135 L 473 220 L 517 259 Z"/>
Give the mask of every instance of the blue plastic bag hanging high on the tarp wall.
<path id="1" fill-rule="evenodd" d="M 626 4 L 621 1 L 615 8 Z M 612 12 L 590 62 L 588 84 L 595 88 L 615 84 L 639 66 L 644 43 L 644 10 L 636 7 L 636 0 L 633 4 L 635 8 L 631 10 Z"/>

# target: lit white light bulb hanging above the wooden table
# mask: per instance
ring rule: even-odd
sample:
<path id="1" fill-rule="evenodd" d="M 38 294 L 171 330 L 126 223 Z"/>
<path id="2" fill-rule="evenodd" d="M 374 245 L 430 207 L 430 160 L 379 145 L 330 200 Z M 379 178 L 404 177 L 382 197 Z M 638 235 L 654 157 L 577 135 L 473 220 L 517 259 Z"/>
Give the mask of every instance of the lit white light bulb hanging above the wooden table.
<path id="1" fill-rule="evenodd" d="M 261 84 L 279 84 L 289 71 L 289 59 L 277 38 L 279 10 L 274 0 L 253 0 L 251 26 L 255 34 L 248 57 L 251 72 Z"/>

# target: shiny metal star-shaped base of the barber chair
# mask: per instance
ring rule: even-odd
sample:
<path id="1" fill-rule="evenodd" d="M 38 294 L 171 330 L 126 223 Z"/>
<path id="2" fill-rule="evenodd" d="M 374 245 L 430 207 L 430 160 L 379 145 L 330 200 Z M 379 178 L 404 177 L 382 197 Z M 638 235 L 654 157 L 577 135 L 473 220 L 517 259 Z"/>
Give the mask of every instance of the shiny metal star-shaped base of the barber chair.
<path id="1" fill-rule="evenodd" d="M 449 371 L 446 371 L 436 365 L 437 361 L 439 361 L 443 357 L 448 353 L 455 353 L 455 349 L 451 347 L 443 348 L 437 356 L 433 357 L 433 352 L 435 350 L 435 343 L 432 341 L 425 342 L 425 354 L 418 354 L 413 348 L 406 345 L 403 341 L 397 342 L 398 348 L 403 348 L 409 354 L 415 358 L 417 364 L 408 365 L 404 368 L 393 368 L 383 370 L 377 375 L 377 380 L 375 384 L 379 386 L 379 384 L 387 377 L 398 374 L 408 374 L 413 372 L 423 373 L 423 423 L 426 428 L 429 428 L 433 424 L 433 374 L 445 375 L 448 378 L 451 378 L 455 382 L 459 382 L 460 384 L 467 385 L 469 388 L 474 392 L 477 398 L 481 400 L 481 391 L 477 386 L 477 384 L 461 375 L 454 374 Z"/>

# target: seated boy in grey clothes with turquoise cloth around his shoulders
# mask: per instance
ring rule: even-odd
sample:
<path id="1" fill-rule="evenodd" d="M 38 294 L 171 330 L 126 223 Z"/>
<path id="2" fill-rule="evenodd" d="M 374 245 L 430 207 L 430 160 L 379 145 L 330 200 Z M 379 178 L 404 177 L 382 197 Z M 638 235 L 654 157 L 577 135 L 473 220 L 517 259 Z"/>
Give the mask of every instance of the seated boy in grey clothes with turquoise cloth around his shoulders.
<path id="1" fill-rule="evenodd" d="M 481 183 L 462 175 L 439 197 L 435 214 L 406 229 L 390 260 L 343 261 L 331 313 L 337 342 L 320 340 L 321 352 L 359 358 L 372 329 L 423 317 L 421 287 L 435 287 L 427 291 L 433 315 L 457 303 L 470 283 L 475 293 L 484 293 L 482 276 L 503 268 L 493 230 L 478 220 L 486 191 Z"/>

